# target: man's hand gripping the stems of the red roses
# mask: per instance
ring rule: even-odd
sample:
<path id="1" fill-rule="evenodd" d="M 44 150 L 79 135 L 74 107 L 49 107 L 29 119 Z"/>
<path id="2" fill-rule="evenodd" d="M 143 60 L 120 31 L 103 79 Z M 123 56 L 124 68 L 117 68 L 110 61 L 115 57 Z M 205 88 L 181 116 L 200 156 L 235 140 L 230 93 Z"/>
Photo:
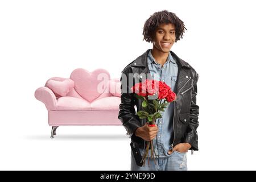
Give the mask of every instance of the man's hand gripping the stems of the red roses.
<path id="1" fill-rule="evenodd" d="M 146 141 L 150 141 L 156 137 L 156 134 L 158 134 L 158 127 L 155 126 L 148 126 L 148 122 L 144 126 L 138 127 L 138 129 L 135 131 L 135 135 L 137 137 L 141 137 L 142 139 Z"/>

